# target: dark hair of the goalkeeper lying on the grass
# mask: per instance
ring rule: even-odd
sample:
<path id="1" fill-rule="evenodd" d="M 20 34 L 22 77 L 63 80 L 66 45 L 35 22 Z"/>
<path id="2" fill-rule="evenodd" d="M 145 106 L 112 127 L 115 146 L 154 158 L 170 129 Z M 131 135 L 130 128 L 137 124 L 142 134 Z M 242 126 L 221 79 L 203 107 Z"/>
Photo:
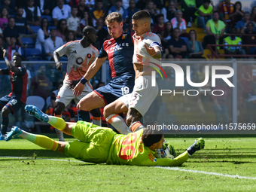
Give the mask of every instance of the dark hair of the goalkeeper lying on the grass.
<path id="1" fill-rule="evenodd" d="M 142 142 L 146 147 L 151 147 L 154 143 L 160 142 L 163 138 L 163 131 L 157 129 L 145 129 L 142 133 Z"/>

